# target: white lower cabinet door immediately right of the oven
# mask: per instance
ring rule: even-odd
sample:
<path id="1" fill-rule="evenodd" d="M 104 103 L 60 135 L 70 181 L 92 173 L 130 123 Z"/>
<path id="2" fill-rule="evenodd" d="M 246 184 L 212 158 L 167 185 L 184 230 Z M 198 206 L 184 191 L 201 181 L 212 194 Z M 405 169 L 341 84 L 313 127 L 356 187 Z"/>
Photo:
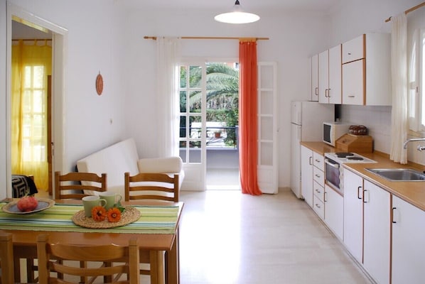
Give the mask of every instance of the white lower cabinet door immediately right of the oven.
<path id="1" fill-rule="evenodd" d="M 363 252 L 363 179 L 344 169 L 344 244 L 362 263 Z"/>

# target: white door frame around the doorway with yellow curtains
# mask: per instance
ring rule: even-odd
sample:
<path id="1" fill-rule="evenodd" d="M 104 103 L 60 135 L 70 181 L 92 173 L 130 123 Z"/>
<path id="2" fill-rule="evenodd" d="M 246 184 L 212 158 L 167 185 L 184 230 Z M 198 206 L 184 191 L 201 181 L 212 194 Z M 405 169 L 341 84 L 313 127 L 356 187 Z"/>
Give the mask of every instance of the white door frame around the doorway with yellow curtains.
<path id="1" fill-rule="evenodd" d="M 51 173 L 55 170 L 63 170 L 67 164 L 67 155 L 64 151 L 64 141 L 65 141 L 65 65 L 66 65 L 66 53 L 67 53 L 67 43 L 68 43 L 68 30 L 52 23 L 46 21 L 45 19 L 36 16 L 34 13 L 26 11 L 19 6 L 7 4 L 7 33 L 6 33 L 6 43 L 7 43 L 7 66 L 6 66 L 6 101 L 9 104 L 6 105 L 6 196 L 12 197 L 12 185 L 11 185 L 11 176 L 12 176 L 12 165 L 11 165 L 11 128 L 12 128 L 12 111 L 11 111 L 11 97 L 12 97 L 12 55 L 11 55 L 11 45 L 12 45 L 12 33 L 13 33 L 13 24 L 14 21 L 18 23 L 23 23 L 24 26 L 30 26 L 31 28 L 36 28 L 39 31 L 44 31 L 51 36 L 51 45 L 52 45 L 52 58 L 51 58 L 51 69 L 52 74 L 50 78 L 50 104 L 52 107 L 50 109 L 51 116 L 50 123 L 48 128 L 50 128 L 50 143 L 46 143 L 43 151 L 46 152 L 46 155 L 51 154 L 51 159 L 48 161 L 50 164 L 50 178 L 48 183 L 50 184 L 48 190 L 50 190 L 49 195 L 52 195 L 52 178 Z M 54 107 L 53 107 L 54 106 Z M 51 148 L 50 148 L 51 147 Z M 58 153 L 58 155 L 54 155 Z M 43 189 L 45 190 L 45 189 Z M 40 191 L 40 190 L 39 190 Z"/>

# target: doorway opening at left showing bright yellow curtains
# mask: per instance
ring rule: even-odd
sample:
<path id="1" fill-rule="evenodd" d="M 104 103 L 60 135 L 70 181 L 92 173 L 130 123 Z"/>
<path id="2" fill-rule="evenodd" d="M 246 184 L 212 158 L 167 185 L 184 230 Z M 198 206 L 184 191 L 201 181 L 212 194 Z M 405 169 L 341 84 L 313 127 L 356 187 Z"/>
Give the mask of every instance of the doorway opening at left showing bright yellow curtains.
<path id="1" fill-rule="evenodd" d="M 52 33 L 12 21 L 11 170 L 52 192 Z"/>

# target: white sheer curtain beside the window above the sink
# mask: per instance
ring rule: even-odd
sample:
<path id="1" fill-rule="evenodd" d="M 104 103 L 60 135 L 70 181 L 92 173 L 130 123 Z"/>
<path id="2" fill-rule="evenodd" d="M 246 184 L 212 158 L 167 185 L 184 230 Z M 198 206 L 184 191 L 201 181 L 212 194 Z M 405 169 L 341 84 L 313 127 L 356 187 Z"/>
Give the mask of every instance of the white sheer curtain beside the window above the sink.
<path id="1" fill-rule="evenodd" d="M 394 162 L 407 163 L 403 143 L 407 138 L 407 19 L 401 13 L 391 18 L 392 116 L 391 153 Z"/>

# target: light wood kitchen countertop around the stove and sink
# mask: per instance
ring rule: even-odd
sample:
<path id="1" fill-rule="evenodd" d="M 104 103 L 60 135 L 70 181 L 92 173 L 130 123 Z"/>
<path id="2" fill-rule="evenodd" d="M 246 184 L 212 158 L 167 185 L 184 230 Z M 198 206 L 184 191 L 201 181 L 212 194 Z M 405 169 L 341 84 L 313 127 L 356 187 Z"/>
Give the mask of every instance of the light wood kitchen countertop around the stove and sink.
<path id="1" fill-rule="evenodd" d="M 301 145 L 306 146 L 316 153 L 321 153 L 322 155 L 324 153 L 338 151 L 338 148 L 328 146 L 323 142 L 301 142 Z M 377 163 L 348 163 L 343 165 L 344 168 L 352 170 L 354 173 L 360 175 L 365 180 L 369 180 L 375 185 L 382 187 L 384 190 L 387 190 L 389 193 L 392 193 L 402 200 L 405 200 L 406 202 L 409 202 L 410 204 L 425 211 L 425 182 L 392 182 L 365 170 L 366 168 L 414 168 L 415 170 L 424 171 L 425 166 L 414 163 L 408 163 L 406 165 L 394 163 L 392 160 L 389 160 L 389 155 L 380 152 L 357 154 L 363 155 L 366 158 L 370 158 L 372 160 L 376 160 Z"/>

